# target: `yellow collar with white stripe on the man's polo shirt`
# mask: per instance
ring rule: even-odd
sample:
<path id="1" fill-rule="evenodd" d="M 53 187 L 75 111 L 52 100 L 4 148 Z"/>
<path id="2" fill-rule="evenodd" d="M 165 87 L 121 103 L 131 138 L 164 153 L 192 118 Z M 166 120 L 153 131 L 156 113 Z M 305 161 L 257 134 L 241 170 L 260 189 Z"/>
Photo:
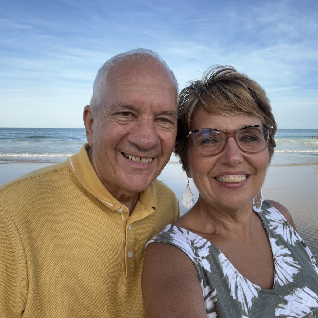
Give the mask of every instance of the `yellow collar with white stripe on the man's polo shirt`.
<path id="1" fill-rule="evenodd" d="M 116 210 L 121 208 L 122 204 L 109 193 L 97 176 L 88 158 L 87 151 L 89 148 L 90 146 L 86 143 L 82 146 L 79 153 L 67 158 L 68 167 L 84 188 L 109 209 Z M 153 209 L 156 209 L 156 188 L 153 182 L 146 190 L 140 193 L 139 203 L 147 203 Z"/>

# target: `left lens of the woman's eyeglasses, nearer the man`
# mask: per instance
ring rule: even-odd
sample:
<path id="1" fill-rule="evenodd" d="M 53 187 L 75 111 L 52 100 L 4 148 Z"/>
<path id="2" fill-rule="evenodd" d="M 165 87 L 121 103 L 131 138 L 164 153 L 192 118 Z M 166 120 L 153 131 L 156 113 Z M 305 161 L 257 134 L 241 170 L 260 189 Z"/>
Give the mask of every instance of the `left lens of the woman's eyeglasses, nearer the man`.
<path id="1" fill-rule="evenodd" d="M 201 130 L 194 134 L 194 143 L 202 155 L 213 155 L 218 153 L 224 143 L 225 134 L 221 131 Z"/>

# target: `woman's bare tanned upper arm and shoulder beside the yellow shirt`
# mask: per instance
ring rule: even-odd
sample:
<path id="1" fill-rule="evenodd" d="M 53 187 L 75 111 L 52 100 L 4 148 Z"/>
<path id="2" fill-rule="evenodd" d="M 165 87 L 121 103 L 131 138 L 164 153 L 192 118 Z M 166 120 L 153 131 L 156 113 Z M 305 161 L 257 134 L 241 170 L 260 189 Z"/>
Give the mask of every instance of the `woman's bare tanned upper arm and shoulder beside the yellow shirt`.
<path id="1" fill-rule="evenodd" d="M 176 230 L 175 227 L 172 229 Z M 167 232 L 170 231 L 166 229 L 161 234 Z M 154 238 L 146 248 L 141 285 L 149 317 L 185 317 L 189 312 L 191 316 L 206 315 L 197 266 L 193 266 L 195 263 L 185 253 L 186 249 L 176 246 L 179 245 L 177 241 L 169 239 L 166 244 L 164 240 Z"/>

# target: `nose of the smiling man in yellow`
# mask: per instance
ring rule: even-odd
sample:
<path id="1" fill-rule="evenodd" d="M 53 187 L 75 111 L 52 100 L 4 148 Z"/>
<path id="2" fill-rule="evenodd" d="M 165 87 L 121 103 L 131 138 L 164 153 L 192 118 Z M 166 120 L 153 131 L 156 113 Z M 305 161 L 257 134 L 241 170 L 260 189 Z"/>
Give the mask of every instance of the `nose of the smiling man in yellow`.
<path id="1" fill-rule="evenodd" d="M 136 123 L 134 130 L 129 134 L 129 141 L 141 149 L 151 149 L 158 143 L 157 127 L 152 120 L 143 120 Z"/>

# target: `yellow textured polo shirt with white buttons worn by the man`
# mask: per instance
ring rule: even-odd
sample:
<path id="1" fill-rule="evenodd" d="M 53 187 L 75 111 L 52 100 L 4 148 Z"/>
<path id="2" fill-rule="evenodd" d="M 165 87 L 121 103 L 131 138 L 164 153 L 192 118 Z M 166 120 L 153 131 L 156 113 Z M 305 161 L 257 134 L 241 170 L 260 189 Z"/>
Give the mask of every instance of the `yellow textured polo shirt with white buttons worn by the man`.
<path id="1" fill-rule="evenodd" d="M 179 217 L 155 180 L 129 216 L 86 144 L 0 188 L 0 317 L 144 317 L 144 246 Z"/>

